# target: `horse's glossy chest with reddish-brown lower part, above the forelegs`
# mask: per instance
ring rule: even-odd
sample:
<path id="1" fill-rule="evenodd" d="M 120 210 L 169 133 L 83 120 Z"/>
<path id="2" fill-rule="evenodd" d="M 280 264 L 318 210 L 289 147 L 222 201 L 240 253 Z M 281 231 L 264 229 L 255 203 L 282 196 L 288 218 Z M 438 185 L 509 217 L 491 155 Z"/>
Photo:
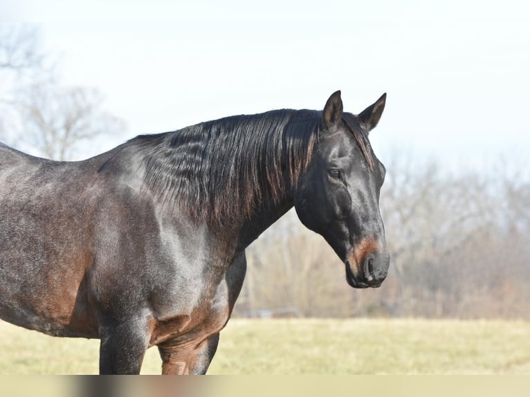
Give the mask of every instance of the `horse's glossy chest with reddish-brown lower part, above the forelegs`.
<path id="1" fill-rule="evenodd" d="M 177 266 L 167 274 L 171 280 L 157 294 L 152 320 L 150 344 L 167 340 L 180 343 L 201 342 L 219 333 L 228 322 L 245 276 L 244 252 L 228 255 L 212 249 L 204 255 L 197 246 L 195 255 L 178 260 L 182 250 L 174 255 Z M 185 255 L 184 255 L 185 256 Z"/>

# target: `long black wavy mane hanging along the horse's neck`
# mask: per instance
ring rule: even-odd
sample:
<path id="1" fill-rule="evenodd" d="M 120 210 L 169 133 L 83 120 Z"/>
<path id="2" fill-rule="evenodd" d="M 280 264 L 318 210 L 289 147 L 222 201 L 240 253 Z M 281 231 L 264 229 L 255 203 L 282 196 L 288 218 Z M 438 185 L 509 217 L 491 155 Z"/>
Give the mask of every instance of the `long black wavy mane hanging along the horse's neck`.
<path id="1" fill-rule="evenodd" d="M 145 187 L 194 219 L 248 217 L 278 201 L 309 164 L 321 112 L 269 111 L 203 122 L 129 143 L 147 151 Z M 144 152 L 145 153 L 145 152 Z"/>

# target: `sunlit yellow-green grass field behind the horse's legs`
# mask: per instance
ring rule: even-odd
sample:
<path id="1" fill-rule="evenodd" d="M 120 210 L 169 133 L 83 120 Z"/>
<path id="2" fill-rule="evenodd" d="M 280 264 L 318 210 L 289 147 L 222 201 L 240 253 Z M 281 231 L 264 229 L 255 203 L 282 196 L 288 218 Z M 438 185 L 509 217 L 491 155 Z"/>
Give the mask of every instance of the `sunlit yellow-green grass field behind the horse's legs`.
<path id="1" fill-rule="evenodd" d="M 0 322 L 0 374 L 98 373 L 98 340 Z M 160 373 L 156 348 L 142 373 Z M 530 374 L 530 322 L 240 320 L 221 332 L 210 374 Z"/>

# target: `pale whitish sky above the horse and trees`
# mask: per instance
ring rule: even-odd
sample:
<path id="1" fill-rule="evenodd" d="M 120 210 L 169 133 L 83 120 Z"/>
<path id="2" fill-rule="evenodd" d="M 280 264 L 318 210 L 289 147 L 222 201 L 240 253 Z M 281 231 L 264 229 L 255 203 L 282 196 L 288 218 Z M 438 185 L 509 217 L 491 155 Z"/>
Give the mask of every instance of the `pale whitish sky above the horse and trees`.
<path id="1" fill-rule="evenodd" d="M 358 113 L 387 93 L 371 134 L 454 165 L 530 154 L 527 1 L 3 0 L 36 24 L 60 82 L 98 88 L 127 134 L 271 109 Z M 526 166 L 526 165 L 525 165 Z"/>

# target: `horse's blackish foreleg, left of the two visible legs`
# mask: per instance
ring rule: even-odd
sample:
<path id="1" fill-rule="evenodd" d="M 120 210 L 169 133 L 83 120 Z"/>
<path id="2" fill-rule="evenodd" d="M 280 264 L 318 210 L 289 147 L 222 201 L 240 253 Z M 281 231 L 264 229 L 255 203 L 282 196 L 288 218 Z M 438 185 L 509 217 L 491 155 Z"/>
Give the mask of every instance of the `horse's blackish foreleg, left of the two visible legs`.
<path id="1" fill-rule="evenodd" d="M 138 374 L 149 344 L 140 320 L 100 326 L 100 374 Z"/>

